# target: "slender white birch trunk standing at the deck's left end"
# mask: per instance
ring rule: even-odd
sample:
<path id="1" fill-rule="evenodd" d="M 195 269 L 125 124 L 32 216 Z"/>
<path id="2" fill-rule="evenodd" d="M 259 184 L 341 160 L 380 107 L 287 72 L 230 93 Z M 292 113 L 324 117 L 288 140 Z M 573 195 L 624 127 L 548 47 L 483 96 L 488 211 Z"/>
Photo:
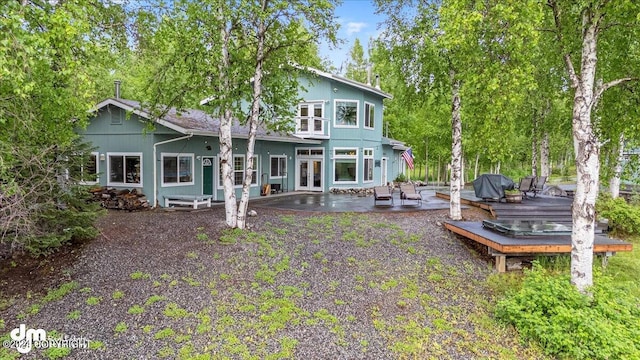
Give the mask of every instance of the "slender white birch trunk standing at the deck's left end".
<path id="1" fill-rule="evenodd" d="M 462 220 L 460 209 L 460 173 L 462 163 L 462 119 L 460 117 L 460 80 L 456 79 L 455 71 L 450 71 L 451 77 L 451 184 L 449 200 L 449 216 L 452 220 Z"/>

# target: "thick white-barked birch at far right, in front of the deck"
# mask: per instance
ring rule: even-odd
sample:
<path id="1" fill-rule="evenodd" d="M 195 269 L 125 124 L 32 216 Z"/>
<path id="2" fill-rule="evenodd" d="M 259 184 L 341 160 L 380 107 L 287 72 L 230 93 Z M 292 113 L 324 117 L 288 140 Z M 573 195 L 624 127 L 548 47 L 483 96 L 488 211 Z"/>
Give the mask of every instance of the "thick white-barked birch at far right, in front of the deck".
<path id="1" fill-rule="evenodd" d="M 586 293 L 593 284 L 595 202 L 601 147 L 592 114 L 607 89 L 637 80 L 634 76 L 640 73 L 640 68 L 636 67 L 634 72 L 616 73 L 612 71 L 613 64 L 606 60 L 621 60 L 621 52 L 633 48 L 633 42 L 637 43 L 640 4 L 630 0 L 548 0 L 547 6 L 559 53 L 574 91 L 572 131 L 578 181 L 572 210 L 571 282 Z M 610 53 L 599 53 L 600 42 L 615 46 L 608 47 Z M 635 59 L 629 60 L 627 62 L 634 63 Z"/>

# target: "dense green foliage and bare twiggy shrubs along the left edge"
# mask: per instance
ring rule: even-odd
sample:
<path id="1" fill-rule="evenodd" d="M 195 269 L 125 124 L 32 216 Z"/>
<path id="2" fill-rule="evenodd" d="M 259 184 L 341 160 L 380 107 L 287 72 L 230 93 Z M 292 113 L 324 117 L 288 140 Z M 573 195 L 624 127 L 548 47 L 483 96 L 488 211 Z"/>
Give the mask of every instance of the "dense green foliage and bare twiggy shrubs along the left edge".
<path id="1" fill-rule="evenodd" d="M 97 205 L 66 174 L 87 149 L 74 130 L 97 101 L 124 11 L 89 3 L 0 3 L 0 241 L 13 250 L 43 255 L 97 234 Z"/>

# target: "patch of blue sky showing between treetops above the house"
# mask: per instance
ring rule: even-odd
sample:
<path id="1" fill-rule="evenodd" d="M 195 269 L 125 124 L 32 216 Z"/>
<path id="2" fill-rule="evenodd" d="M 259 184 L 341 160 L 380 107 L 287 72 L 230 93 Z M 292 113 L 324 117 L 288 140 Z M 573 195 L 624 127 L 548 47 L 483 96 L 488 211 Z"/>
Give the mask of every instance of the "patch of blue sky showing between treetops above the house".
<path id="1" fill-rule="evenodd" d="M 338 73 L 344 74 L 346 61 L 356 38 L 360 39 L 365 57 L 367 56 L 369 39 L 378 37 L 380 23 L 385 19 L 375 11 L 376 6 L 370 0 L 343 0 L 336 8 L 336 21 L 340 24 L 338 38 L 342 39 L 343 43 L 338 45 L 337 49 L 330 49 L 327 44 L 322 44 L 320 56 L 331 61 Z"/>

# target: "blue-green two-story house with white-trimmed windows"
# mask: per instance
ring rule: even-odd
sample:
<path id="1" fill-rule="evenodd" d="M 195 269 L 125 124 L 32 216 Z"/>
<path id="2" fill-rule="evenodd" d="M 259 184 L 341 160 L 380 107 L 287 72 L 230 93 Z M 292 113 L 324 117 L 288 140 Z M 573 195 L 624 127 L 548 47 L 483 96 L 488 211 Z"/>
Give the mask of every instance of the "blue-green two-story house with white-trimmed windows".
<path id="1" fill-rule="evenodd" d="M 402 172 L 404 144 L 383 136 L 383 100 L 391 96 L 344 77 L 311 70 L 297 105 L 295 132 L 259 129 L 250 196 L 263 184 L 281 191 L 369 188 Z M 308 83 L 306 83 L 308 81 Z M 220 121 L 200 110 L 171 109 L 155 128 L 139 102 L 118 96 L 96 106 L 80 130 L 96 148 L 83 179 L 88 184 L 136 188 L 154 205 L 175 195 L 222 200 L 218 163 Z M 232 128 L 233 170 L 238 191 L 245 175 L 248 128 Z M 238 192 L 239 195 L 239 192 Z"/>

